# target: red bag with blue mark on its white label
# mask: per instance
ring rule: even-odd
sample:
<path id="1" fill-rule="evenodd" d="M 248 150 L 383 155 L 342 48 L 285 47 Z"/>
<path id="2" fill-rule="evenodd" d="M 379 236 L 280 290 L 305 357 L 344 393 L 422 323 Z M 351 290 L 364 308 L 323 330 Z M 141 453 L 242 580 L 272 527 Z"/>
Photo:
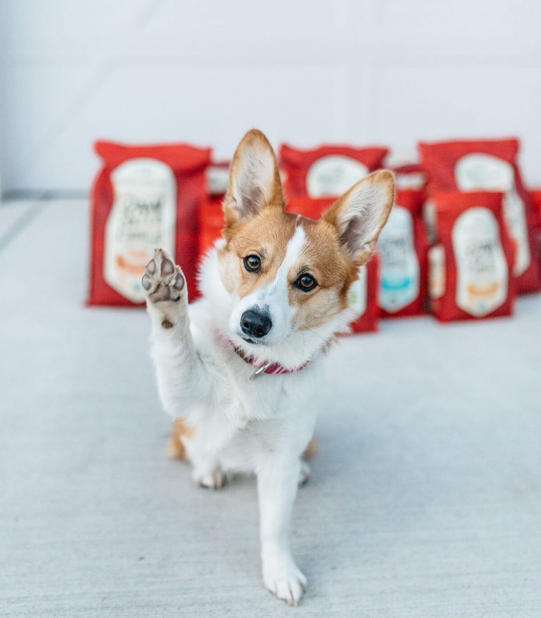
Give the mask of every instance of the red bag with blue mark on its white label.
<path id="1" fill-rule="evenodd" d="M 423 193 L 398 190 L 378 240 L 381 316 L 425 313 L 428 243 L 422 220 Z"/>

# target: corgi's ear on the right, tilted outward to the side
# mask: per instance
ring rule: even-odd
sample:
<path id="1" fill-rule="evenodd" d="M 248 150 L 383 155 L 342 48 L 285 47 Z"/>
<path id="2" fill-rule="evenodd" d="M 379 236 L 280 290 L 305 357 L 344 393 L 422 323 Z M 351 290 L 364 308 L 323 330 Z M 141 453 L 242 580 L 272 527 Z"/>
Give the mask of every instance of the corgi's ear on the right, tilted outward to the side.
<path id="1" fill-rule="evenodd" d="M 375 252 L 393 203 L 393 172 L 380 169 L 353 185 L 322 219 L 336 227 L 344 251 L 361 266 Z"/>

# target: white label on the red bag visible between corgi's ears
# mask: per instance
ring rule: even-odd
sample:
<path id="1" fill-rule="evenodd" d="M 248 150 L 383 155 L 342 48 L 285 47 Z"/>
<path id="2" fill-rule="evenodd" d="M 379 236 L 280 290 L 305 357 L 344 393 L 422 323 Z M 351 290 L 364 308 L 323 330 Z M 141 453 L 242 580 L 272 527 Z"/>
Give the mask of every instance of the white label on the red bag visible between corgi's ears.
<path id="1" fill-rule="evenodd" d="M 341 195 L 368 175 L 368 167 L 344 155 L 328 155 L 315 161 L 306 175 L 309 197 Z"/>

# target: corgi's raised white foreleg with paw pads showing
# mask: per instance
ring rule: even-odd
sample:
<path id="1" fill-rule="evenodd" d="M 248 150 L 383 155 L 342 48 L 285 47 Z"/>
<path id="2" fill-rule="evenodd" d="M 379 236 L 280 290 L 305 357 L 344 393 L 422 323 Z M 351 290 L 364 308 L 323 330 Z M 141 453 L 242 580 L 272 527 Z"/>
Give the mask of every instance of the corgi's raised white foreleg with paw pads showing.
<path id="1" fill-rule="evenodd" d="M 210 396 L 212 382 L 190 332 L 188 293 L 182 270 L 161 249 L 142 280 L 152 323 L 152 357 L 161 402 L 173 418 Z"/>

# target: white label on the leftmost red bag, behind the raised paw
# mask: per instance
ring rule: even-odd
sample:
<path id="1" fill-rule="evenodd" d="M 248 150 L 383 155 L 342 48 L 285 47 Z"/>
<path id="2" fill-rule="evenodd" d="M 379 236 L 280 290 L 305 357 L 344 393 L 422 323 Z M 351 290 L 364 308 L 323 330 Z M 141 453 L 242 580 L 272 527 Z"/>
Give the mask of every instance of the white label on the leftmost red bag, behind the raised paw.
<path id="1" fill-rule="evenodd" d="M 111 173 L 113 206 L 105 227 L 103 277 L 119 294 L 143 302 L 145 265 L 162 248 L 175 253 L 176 180 L 171 167 L 137 158 Z"/>

